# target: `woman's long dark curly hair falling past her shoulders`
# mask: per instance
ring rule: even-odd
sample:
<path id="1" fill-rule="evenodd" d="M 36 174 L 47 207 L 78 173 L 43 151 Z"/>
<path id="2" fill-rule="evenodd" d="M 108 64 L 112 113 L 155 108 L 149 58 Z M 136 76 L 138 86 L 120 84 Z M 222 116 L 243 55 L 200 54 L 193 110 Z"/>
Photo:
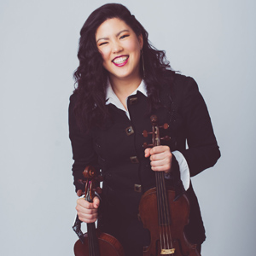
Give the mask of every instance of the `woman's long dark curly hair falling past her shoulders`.
<path id="1" fill-rule="evenodd" d="M 104 119 L 108 118 L 106 106 L 108 71 L 102 66 L 102 55 L 97 49 L 95 35 L 97 28 L 105 20 L 112 18 L 125 21 L 137 37 L 143 35 L 144 73 L 142 60 L 140 72 L 147 86 L 150 108 L 159 104 L 158 90 L 165 77 L 163 73 L 166 69 L 171 69 L 165 51 L 155 49 L 149 43 L 148 32 L 124 5 L 119 3 L 102 5 L 90 14 L 80 32 L 79 67 L 73 74 L 77 85 L 74 90 L 74 94 L 77 94 L 74 111 L 80 128 L 102 125 Z"/>

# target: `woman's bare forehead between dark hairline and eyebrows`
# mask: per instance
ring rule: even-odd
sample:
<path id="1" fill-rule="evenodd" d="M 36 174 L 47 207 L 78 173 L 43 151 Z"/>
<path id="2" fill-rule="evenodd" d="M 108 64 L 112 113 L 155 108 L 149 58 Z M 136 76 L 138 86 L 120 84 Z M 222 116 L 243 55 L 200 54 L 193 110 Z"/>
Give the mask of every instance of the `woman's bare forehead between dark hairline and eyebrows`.
<path id="1" fill-rule="evenodd" d="M 128 26 L 124 20 L 118 18 L 112 18 L 105 20 L 96 30 L 96 39 L 97 38 L 107 38 L 113 34 L 117 34 L 120 31 L 129 30 L 133 32 L 131 27 Z"/>

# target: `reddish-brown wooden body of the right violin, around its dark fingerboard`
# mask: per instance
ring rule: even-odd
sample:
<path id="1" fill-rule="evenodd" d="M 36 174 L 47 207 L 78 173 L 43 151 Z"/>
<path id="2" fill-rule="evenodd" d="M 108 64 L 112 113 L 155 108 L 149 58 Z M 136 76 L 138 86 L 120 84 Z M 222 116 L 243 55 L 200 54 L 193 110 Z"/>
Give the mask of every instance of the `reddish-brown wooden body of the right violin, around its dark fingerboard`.
<path id="1" fill-rule="evenodd" d="M 143 256 L 160 256 L 160 234 L 167 232 L 170 244 L 175 248 L 175 253 L 166 254 L 173 256 L 200 256 L 195 244 L 190 244 L 183 233 L 185 225 L 189 224 L 189 200 L 186 195 L 181 195 L 174 201 L 175 191 L 166 189 L 171 219 L 168 224 L 159 225 L 156 188 L 146 191 L 139 205 L 139 214 L 145 229 L 150 231 L 151 243 L 144 247 Z M 166 239 L 168 240 L 168 239 Z M 172 240 L 172 241 L 171 241 Z"/>

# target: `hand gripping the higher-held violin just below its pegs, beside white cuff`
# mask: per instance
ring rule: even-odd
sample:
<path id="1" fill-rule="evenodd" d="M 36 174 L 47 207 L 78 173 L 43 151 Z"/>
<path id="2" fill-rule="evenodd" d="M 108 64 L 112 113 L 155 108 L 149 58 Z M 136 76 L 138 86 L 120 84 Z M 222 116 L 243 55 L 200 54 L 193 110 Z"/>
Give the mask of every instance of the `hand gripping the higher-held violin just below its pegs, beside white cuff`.
<path id="1" fill-rule="evenodd" d="M 168 146 L 145 149 L 145 157 L 150 156 L 151 169 L 155 172 L 171 172 L 172 153 Z"/>

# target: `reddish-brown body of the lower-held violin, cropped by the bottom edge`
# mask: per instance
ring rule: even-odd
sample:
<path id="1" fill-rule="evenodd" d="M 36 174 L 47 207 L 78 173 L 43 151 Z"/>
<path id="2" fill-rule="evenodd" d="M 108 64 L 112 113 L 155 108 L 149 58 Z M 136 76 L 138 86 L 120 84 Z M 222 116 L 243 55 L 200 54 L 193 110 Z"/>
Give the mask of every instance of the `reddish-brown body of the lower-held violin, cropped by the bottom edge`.
<path id="1" fill-rule="evenodd" d="M 124 249 L 119 241 L 100 230 L 96 230 L 97 243 L 100 256 L 125 256 Z M 78 240 L 74 245 L 75 256 L 95 256 L 97 253 L 90 254 L 90 241 L 87 233 L 84 234 L 84 244 Z"/>

